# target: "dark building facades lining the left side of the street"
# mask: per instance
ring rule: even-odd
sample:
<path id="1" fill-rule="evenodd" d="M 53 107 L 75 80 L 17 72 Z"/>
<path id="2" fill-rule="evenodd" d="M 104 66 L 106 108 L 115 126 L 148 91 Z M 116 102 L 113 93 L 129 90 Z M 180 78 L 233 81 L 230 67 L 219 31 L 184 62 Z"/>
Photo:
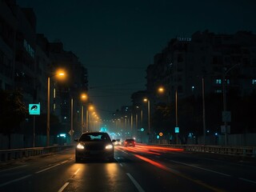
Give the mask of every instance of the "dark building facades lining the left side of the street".
<path id="1" fill-rule="evenodd" d="M 81 121 L 80 95 L 88 91 L 87 69 L 62 42 L 49 42 L 37 34 L 36 15 L 14 0 L 0 1 L 0 89 L 21 90 L 26 106 L 40 103 L 47 113 L 47 79 L 50 77 L 50 114 L 55 114 L 66 134 L 71 129 L 70 99 L 74 99 L 74 122 Z M 54 78 L 56 70 L 66 70 L 66 81 Z M 31 117 L 26 125 L 30 125 Z M 77 121 L 75 121 L 77 120 Z M 81 124 L 81 123 L 80 123 Z"/>

